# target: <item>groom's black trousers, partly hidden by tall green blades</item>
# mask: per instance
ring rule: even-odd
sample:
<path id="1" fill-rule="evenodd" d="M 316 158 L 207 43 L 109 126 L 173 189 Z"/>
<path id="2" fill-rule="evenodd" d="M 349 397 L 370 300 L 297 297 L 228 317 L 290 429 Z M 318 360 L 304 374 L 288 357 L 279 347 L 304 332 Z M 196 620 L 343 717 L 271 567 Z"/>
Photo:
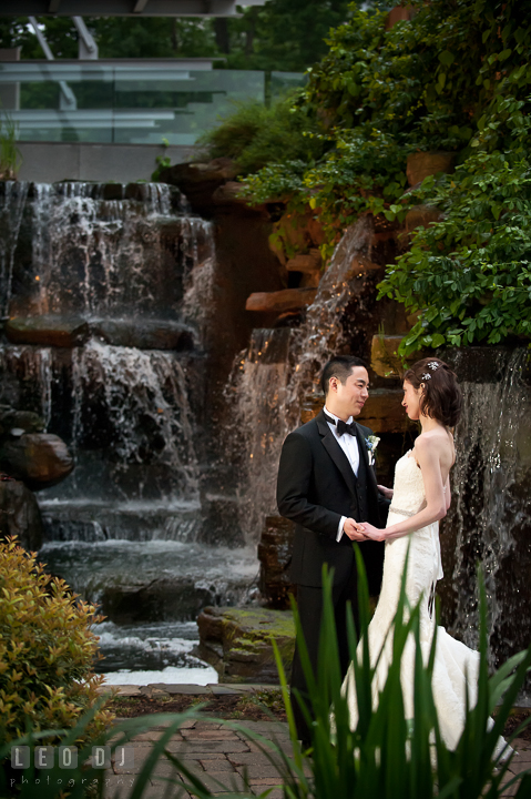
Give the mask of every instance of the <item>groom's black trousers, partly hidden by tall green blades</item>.
<path id="1" fill-rule="evenodd" d="M 334 586 L 331 591 L 331 600 L 334 605 L 334 616 L 336 619 L 337 630 L 337 644 L 339 650 L 339 664 L 341 667 L 341 675 L 345 677 L 350 663 L 348 655 L 348 640 L 347 640 L 347 601 L 350 600 L 353 606 L 354 624 L 356 629 L 359 629 L 358 624 L 358 596 L 357 596 L 357 575 L 355 569 L 350 574 L 348 583 L 343 586 Z M 320 634 L 320 620 L 323 616 L 323 589 L 315 588 L 313 586 L 297 586 L 297 608 L 300 617 L 300 625 L 308 649 L 309 661 L 314 674 L 317 675 L 317 661 L 319 654 L 319 634 Z M 312 736 L 309 728 L 304 718 L 304 714 L 300 710 L 300 706 L 293 694 L 293 689 L 297 688 L 303 699 L 307 700 L 307 688 L 306 680 L 300 664 L 298 648 L 295 647 L 295 655 L 292 667 L 292 705 L 295 717 L 295 724 L 297 726 L 297 732 L 299 740 L 309 741 Z M 309 702 L 306 701 L 306 707 L 310 710 Z"/>

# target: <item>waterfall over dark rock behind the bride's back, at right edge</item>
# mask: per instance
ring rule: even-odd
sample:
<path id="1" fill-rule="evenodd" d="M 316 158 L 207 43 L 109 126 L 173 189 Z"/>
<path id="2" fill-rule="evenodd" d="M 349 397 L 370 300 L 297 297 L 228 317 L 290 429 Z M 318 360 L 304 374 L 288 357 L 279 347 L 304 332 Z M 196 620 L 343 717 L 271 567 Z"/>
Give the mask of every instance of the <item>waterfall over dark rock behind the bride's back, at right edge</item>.
<path id="1" fill-rule="evenodd" d="M 489 351 L 487 351 L 489 354 Z M 492 366 L 478 351 L 459 351 L 452 365 L 463 376 L 463 415 L 456 431 L 452 505 L 441 527 L 441 546 L 451 572 L 452 631 L 478 645 L 477 564 L 489 606 L 492 666 L 529 646 L 529 481 L 531 402 L 529 351 L 490 351 Z M 483 374 L 482 374 L 483 372 Z M 489 374 L 490 373 L 490 374 Z"/>

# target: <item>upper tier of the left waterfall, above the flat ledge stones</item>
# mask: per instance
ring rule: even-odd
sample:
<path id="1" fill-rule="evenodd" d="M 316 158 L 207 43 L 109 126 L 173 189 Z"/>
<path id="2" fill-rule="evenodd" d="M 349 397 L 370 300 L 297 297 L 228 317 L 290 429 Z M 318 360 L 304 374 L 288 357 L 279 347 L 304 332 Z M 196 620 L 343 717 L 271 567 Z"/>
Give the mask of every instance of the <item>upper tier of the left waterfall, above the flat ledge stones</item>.
<path id="1" fill-rule="evenodd" d="M 178 312 L 208 224 L 176 215 L 172 202 L 178 212 L 183 203 L 170 186 L 111 188 L 123 196 L 108 199 L 109 185 L 32 184 L 32 274 L 24 264 L 22 282 L 34 284 L 33 314 Z"/>

